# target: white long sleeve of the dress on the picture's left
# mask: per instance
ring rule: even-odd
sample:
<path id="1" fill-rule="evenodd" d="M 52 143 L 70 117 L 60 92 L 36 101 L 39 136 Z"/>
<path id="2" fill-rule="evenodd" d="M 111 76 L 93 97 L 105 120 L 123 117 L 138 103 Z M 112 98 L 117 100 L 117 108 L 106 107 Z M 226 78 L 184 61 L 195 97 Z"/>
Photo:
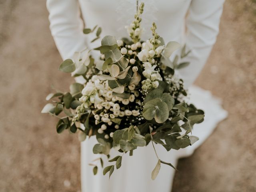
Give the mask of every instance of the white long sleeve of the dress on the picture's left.
<path id="1" fill-rule="evenodd" d="M 47 0 L 50 30 L 62 59 L 86 46 L 78 0 Z"/>

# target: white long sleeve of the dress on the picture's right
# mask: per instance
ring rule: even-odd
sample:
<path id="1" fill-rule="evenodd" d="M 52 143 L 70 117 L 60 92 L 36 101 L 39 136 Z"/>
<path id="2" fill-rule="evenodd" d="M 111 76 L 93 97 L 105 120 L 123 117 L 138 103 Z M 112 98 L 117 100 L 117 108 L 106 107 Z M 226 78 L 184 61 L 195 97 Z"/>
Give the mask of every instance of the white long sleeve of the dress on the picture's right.
<path id="1" fill-rule="evenodd" d="M 224 0 L 191 1 L 186 19 L 186 46 L 191 52 L 184 58 L 190 65 L 179 70 L 186 87 L 196 80 L 216 42 L 223 3 Z"/>

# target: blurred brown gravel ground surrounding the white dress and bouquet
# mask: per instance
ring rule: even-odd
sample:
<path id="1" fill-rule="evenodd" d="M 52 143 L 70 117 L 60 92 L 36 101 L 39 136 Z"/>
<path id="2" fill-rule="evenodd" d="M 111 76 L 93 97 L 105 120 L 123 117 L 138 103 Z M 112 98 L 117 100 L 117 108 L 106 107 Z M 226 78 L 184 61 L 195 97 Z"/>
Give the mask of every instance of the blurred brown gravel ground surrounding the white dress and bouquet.
<path id="1" fill-rule="evenodd" d="M 0 192 L 79 192 L 80 142 L 41 114 L 51 84 L 67 90 L 44 0 L 0 0 Z M 173 192 L 256 191 L 256 0 L 226 0 L 196 85 L 229 116 L 189 158 Z"/>

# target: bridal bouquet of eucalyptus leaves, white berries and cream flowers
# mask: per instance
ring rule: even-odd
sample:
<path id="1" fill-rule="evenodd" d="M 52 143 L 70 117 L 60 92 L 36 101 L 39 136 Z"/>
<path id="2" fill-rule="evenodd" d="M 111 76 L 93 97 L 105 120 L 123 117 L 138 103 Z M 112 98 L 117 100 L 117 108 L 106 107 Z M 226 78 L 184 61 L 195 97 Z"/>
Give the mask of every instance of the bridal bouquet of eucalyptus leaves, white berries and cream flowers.
<path id="1" fill-rule="evenodd" d="M 188 65 L 178 60 L 189 52 L 183 47 L 180 56 L 171 61 L 169 57 L 180 44 L 172 41 L 165 45 L 156 32 L 155 23 L 151 28 L 152 38 L 141 41 L 143 7 L 142 3 L 132 24 L 126 26 L 130 39 L 105 36 L 100 47 L 76 52 L 73 60 L 62 62 L 60 71 L 83 76 L 86 82 L 71 84 L 70 92 L 49 94 L 46 100 L 52 99 L 52 103 L 42 110 L 59 118 L 58 133 L 66 129 L 79 132 L 80 141 L 96 135 L 98 143 L 92 148 L 94 154 L 110 158 L 111 148 L 120 152 L 120 156 L 109 160 L 114 165 L 104 168 L 104 175 L 109 172 L 111 176 L 115 167 L 120 168 L 122 155 L 126 152 L 132 155 L 138 147 L 160 144 L 170 151 L 192 145 L 198 138 L 188 134 L 194 124 L 204 120 L 202 110 L 185 102 L 187 93 L 183 81 L 174 75 L 176 68 Z M 84 29 L 85 34 L 94 31 L 94 40 L 97 40 L 100 27 Z M 93 58 L 92 51 L 100 52 L 100 58 Z M 61 116 L 62 112 L 65 116 Z M 171 163 L 160 160 L 156 150 L 155 153 L 158 162 L 152 171 L 153 180 L 161 164 L 174 168 Z M 103 166 L 102 158 L 100 161 Z M 97 170 L 94 166 L 94 174 Z"/>

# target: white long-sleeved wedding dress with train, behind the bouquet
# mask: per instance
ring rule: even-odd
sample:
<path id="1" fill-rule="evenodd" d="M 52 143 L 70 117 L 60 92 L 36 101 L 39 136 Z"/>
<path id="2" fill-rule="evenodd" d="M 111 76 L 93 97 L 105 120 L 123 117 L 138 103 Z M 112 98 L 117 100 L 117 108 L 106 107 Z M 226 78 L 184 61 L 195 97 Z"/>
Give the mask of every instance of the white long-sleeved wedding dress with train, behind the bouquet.
<path id="1" fill-rule="evenodd" d="M 218 26 L 224 0 L 144 0 L 145 8 L 142 15 L 142 27 L 145 28 L 142 40 L 151 35 L 152 22 L 157 24 L 157 32 L 165 42 L 177 41 L 186 43 L 191 53 L 186 57 L 190 65 L 178 71 L 189 87 L 190 102 L 205 111 L 203 123 L 195 125 L 193 135 L 200 140 L 182 150 L 166 150 L 156 145 L 160 158 L 176 166 L 181 157 L 191 155 L 194 150 L 208 138 L 218 122 L 226 118 L 227 112 L 222 109 L 221 102 L 214 98 L 209 91 L 191 86 L 203 68 L 212 46 L 216 41 Z M 102 35 L 112 35 L 117 39 L 128 36 L 125 25 L 130 24 L 136 10 L 136 0 L 47 0 L 50 12 L 50 29 L 56 46 L 63 59 L 71 58 L 75 51 L 83 50 L 86 46 L 94 48 L 88 42 L 93 35 L 84 35 L 84 23 L 80 18 L 80 10 L 86 27 L 96 24 L 102 27 Z M 188 12 L 188 16 L 186 14 Z M 186 31 L 186 33 L 185 33 Z M 81 78 L 77 81 L 82 82 Z M 151 180 L 151 172 L 157 158 L 152 145 L 134 150 L 133 156 L 125 154 L 120 169 L 115 170 L 110 180 L 102 175 L 100 162 L 96 176 L 93 175 L 92 163 L 99 154 L 92 153 L 96 138 L 91 137 L 81 143 L 81 183 L 82 192 L 170 192 L 174 169 L 161 165 L 162 168 L 156 180 Z M 110 156 L 118 152 L 111 150 Z M 104 157 L 104 156 L 103 156 Z M 107 166 L 109 163 L 104 157 Z"/>

